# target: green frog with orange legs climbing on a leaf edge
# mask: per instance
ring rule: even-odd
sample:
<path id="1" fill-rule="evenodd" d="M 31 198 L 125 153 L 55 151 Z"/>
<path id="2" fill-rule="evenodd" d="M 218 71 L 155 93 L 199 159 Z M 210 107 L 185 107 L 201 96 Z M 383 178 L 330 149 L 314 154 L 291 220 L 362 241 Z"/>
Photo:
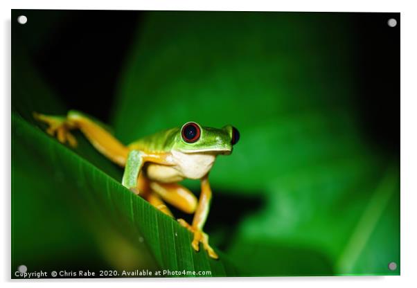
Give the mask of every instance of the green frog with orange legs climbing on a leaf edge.
<path id="1" fill-rule="evenodd" d="M 71 131 L 80 130 L 100 154 L 124 168 L 122 185 L 161 213 L 174 217 L 167 206 L 169 204 L 193 215 L 191 224 L 182 218 L 177 219 L 181 226 L 193 233 L 191 246 L 198 252 L 201 243 L 210 258 L 219 258 L 203 231 L 213 194 L 208 174 L 217 156 L 231 154 L 240 140 L 236 127 L 225 125 L 218 129 L 189 121 L 181 127 L 164 129 L 125 145 L 107 125 L 81 111 L 69 110 L 66 116 L 33 112 L 33 117 L 46 124 L 48 134 L 71 147 L 78 145 Z M 198 200 L 193 192 L 179 183 L 184 179 L 200 181 Z"/>

